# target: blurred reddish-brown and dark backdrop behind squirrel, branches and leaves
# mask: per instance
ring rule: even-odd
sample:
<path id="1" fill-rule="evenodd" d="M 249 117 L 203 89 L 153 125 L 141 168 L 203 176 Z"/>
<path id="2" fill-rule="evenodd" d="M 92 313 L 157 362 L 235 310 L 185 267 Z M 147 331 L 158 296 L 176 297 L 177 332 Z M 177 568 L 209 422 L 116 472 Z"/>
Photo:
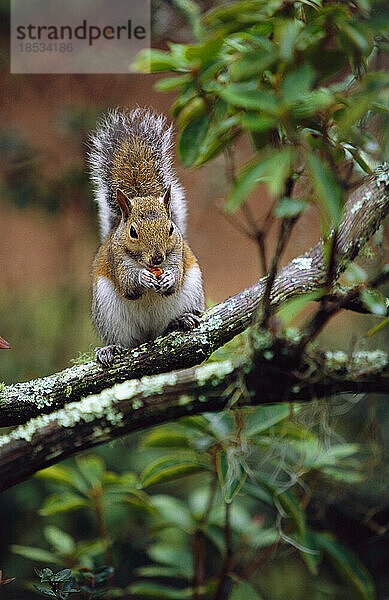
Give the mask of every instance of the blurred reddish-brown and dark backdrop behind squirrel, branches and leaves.
<path id="1" fill-rule="evenodd" d="M 213 3 L 200 4 L 205 9 Z M 0 381 L 12 383 L 71 366 L 80 352 L 98 345 L 89 311 L 90 265 L 98 246 L 98 227 L 86 161 L 88 133 L 100 115 L 116 106 L 146 105 L 169 116 L 174 95 L 154 90 L 155 75 L 10 75 L 8 20 L 8 2 L 1 0 L 0 334 L 12 350 L 1 352 Z M 155 47 L 165 48 L 167 40 L 189 39 L 184 21 L 169 2 L 153 2 L 153 21 Z M 249 153 L 248 145 L 240 142 L 238 164 Z M 203 269 L 208 302 L 216 303 L 262 275 L 258 251 L 220 210 L 228 187 L 223 158 L 198 170 L 185 170 L 176 161 L 176 171 L 188 201 L 188 239 Z M 265 190 L 255 193 L 251 207 L 257 217 L 267 213 Z M 307 250 L 319 236 L 317 214 L 309 208 L 294 229 L 283 264 Z M 273 243 L 270 232 L 269 254 Z M 374 255 L 366 252 L 359 264 L 368 272 L 376 268 L 385 247 L 387 241 L 382 239 Z M 375 323 L 372 316 L 338 316 L 325 330 L 321 343 L 331 349 L 349 349 L 351 343 L 360 348 L 369 344 L 384 347 L 385 330 L 372 343 L 364 338 Z M 389 500 L 385 466 L 389 409 L 385 401 L 371 397 L 368 402 L 334 403 L 328 411 L 336 435 L 366 444 L 370 474 L 357 490 L 345 495 L 341 486 L 333 490 L 325 518 L 373 571 L 381 597 L 389 597 L 389 511 L 385 508 Z M 342 423 L 346 412 L 347 428 Z M 122 469 L 136 469 L 146 464 L 148 457 L 147 452 L 134 452 L 136 444 L 133 437 L 97 453 L 111 468 L 120 463 Z M 45 546 L 43 521 L 37 518 L 37 511 L 47 494 L 46 486 L 33 479 L 0 498 L 0 569 L 19 581 L 31 577 L 32 563 L 12 554 L 10 545 Z M 380 532 L 369 524 L 356 527 L 354 519 L 365 509 L 375 515 Z M 73 529 L 77 527 L 83 526 L 74 523 Z M 291 570 L 293 589 L 288 583 Z M 309 575 L 300 563 L 293 563 L 293 557 L 279 563 L 274 574 L 270 569 L 266 577 L 266 598 L 306 597 Z M 328 589 L 332 589 L 332 575 L 327 574 L 323 581 L 326 577 Z M 5 598 L 22 597 L 20 588 L 15 591 L 11 585 L 3 593 Z"/>

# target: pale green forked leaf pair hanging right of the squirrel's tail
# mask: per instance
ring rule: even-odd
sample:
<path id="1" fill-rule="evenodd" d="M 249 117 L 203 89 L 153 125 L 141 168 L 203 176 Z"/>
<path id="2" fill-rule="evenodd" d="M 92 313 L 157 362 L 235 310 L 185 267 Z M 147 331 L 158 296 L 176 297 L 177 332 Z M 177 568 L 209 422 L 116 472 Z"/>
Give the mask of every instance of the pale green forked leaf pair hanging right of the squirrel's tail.
<path id="1" fill-rule="evenodd" d="M 237 183 L 227 200 L 226 209 L 228 212 L 233 212 L 239 208 L 259 183 L 266 183 L 272 195 L 279 195 L 290 173 L 292 159 L 292 150 L 284 148 L 272 152 L 267 158 L 257 158 L 246 166 L 239 174 Z"/>

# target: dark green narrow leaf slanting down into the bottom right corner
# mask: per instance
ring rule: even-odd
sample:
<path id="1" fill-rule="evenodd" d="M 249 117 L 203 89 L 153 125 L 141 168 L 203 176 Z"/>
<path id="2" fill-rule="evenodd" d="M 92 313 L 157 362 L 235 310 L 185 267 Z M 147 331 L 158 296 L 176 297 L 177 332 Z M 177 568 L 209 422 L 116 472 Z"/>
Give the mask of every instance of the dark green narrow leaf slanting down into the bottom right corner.
<path id="1" fill-rule="evenodd" d="M 318 547 L 328 556 L 339 577 L 359 600 L 374 600 L 375 589 L 370 573 L 345 546 L 324 533 L 315 534 Z"/>

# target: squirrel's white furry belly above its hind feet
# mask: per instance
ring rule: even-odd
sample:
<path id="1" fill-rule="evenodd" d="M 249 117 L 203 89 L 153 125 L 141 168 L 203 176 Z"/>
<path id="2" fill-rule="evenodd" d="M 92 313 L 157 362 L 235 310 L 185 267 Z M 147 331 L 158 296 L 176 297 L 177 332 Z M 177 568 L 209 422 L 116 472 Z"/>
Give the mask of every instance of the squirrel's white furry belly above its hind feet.
<path id="1" fill-rule="evenodd" d="M 171 296 L 150 291 L 138 300 L 126 300 L 117 293 L 113 283 L 99 277 L 93 289 L 94 320 L 104 341 L 133 348 L 162 335 L 169 323 L 199 303 L 193 289 L 201 285 L 201 272 L 191 267 L 182 287 Z"/>

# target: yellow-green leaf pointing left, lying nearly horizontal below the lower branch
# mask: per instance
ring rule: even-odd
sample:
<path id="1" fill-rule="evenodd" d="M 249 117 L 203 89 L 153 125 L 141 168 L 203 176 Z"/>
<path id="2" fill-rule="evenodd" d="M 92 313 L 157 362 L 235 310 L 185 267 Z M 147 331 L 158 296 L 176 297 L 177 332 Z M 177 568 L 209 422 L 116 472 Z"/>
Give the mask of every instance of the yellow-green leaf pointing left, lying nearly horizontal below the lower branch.
<path id="1" fill-rule="evenodd" d="M 183 456 L 181 453 L 162 456 L 147 465 L 140 476 L 140 483 L 143 487 L 148 487 L 155 483 L 171 481 L 206 469 L 204 464 L 196 461 L 196 455 L 192 452 L 188 453 L 187 456 Z"/>

